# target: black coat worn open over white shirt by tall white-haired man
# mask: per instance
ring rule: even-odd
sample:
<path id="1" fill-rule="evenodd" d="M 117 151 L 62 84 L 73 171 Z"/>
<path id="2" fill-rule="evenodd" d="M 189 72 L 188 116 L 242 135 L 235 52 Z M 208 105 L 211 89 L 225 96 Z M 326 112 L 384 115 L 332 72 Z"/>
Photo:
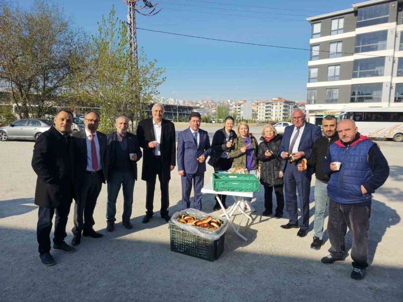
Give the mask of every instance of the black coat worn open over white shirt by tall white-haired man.
<path id="1" fill-rule="evenodd" d="M 151 180 L 155 175 L 155 148 L 149 148 L 150 141 L 157 140 L 154 137 L 153 118 L 144 119 L 139 122 L 137 127 L 137 138 L 140 146 L 143 148 L 143 169 L 142 180 Z M 167 181 L 171 179 L 169 166 L 176 166 L 176 143 L 175 143 L 175 125 L 166 119 L 161 123 L 161 159 L 162 159 L 162 179 Z"/>

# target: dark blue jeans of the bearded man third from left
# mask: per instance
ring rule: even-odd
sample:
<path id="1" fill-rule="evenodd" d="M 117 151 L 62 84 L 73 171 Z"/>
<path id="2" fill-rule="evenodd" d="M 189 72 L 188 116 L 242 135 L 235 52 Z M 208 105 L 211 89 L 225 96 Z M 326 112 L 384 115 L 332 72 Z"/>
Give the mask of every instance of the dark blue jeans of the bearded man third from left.
<path id="1" fill-rule="evenodd" d="M 108 201 L 106 209 L 106 219 L 108 222 L 116 221 L 116 199 L 120 191 L 120 186 L 123 187 L 122 221 L 130 221 L 133 190 L 135 188 L 135 174 L 133 172 L 112 171 L 111 177 L 108 180 Z"/>

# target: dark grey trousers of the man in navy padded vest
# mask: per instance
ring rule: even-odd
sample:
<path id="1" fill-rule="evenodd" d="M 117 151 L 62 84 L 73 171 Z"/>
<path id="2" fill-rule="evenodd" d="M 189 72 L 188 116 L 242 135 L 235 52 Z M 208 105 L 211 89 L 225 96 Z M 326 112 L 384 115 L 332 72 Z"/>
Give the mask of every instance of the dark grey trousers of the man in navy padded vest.
<path id="1" fill-rule="evenodd" d="M 351 205 L 336 203 L 329 200 L 329 219 L 327 233 L 331 247 L 329 252 L 333 258 L 344 257 L 344 237 L 347 227 L 353 235 L 351 258 L 353 267 L 366 268 L 368 266 L 368 229 L 371 207 L 365 205 Z"/>

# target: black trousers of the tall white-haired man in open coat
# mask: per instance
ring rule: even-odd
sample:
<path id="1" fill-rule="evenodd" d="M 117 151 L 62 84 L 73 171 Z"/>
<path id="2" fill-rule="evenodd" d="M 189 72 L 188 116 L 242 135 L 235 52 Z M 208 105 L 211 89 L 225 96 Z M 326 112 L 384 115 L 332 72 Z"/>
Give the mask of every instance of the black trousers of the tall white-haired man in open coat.
<path id="1" fill-rule="evenodd" d="M 144 164 L 144 163 L 143 163 Z M 161 162 L 161 157 L 156 157 L 154 164 L 156 165 L 155 167 L 155 174 L 151 176 L 151 179 L 149 178 L 146 181 L 146 214 L 147 216 L 152 216 L 154 214 L 153 209 L 154 209 L 154 191 L 155 191 L 155 182 L 157 180 L 157 175 L 158 179 L 160 181 L 160 189 L 161 189 L 161 210 L 160 214 L 161 215 L 166 215 L 168 214 L 168 207 L 169 207 L 169 180 L 163 181 L 162 179 L 162 162 Z"/>

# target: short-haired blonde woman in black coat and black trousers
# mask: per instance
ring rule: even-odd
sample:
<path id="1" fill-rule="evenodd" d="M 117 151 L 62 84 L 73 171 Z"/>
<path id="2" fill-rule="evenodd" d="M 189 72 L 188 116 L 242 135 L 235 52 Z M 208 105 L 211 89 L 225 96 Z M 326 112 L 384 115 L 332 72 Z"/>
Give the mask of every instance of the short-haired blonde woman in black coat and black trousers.
<path id="1" fill-rule="evenodd" d="M 273 188 L 277 199 L 276 218 L 283 216 L 284 192 L 283 172 L 281 171 L 281 157 L 279 146 L 282 136 L 277 135 L 276 128 L 272 125 L 264 126 L 261 131 L 262 142 L 259 144 L 257 158 L 260 163 L 260 183 L 264 187 L 264 212 L 263 216 L 273 213 Z"/>

